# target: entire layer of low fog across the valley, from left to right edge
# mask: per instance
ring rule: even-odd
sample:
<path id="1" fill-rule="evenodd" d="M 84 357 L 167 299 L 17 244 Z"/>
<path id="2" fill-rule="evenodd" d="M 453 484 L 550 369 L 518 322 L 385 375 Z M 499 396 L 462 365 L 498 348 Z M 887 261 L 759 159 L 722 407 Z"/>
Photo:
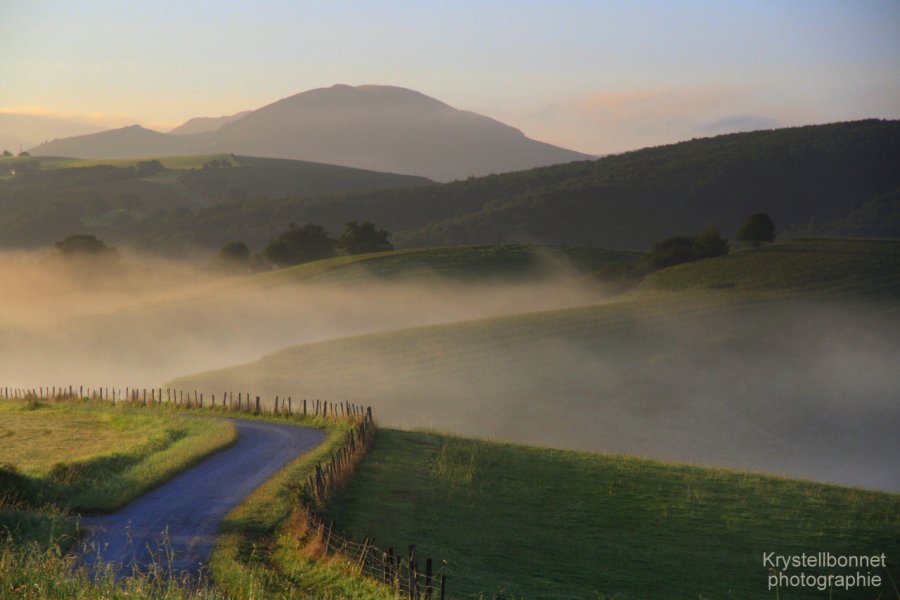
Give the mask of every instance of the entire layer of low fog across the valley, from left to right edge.
<path id="1" fill-rule="evenodd" d="M 160 386 L 331 340 L 181 383 L 370 404 L 389 425 L 900 491 L 896 312 L 576 309 L 397 334 L 605 297 L 566 275 L 249 288 L 134 257 L 101 273 L 27 254 L 0 264 L 0 386 Z M 384 333 L 337 339 L 370 332 Z"/>

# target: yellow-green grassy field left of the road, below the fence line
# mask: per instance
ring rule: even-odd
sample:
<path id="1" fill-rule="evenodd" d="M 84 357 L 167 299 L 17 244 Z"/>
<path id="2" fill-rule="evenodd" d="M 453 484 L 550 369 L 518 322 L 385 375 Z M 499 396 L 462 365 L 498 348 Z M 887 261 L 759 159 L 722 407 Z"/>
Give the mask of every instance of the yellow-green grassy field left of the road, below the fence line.
<path id="1" fill-rule="evenodd" d="M 21 484 L 5 491 L 76 512 L 114 510 L 236 435 L 224 421 L 99 402 L 2 399 L 0 417 L 0 462 Z"/>

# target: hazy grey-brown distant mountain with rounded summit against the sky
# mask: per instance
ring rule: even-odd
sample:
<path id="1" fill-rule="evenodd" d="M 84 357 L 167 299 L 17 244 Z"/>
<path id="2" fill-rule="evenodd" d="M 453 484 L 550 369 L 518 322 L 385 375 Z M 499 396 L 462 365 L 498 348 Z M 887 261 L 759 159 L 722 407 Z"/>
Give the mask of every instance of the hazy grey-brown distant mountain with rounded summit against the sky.
<path id="1" fill-rule="evenodd" d="M 210 130 L 219 120 L 188 121 L 184 129 L 170 134 L 143 130 L 138 136 L 134 131 L 117 130 L 120 133 L 113 136 L 113 132 L 104 132 L 42 144 L 32 154 L 136 158 L 229 152 L 439 181 L 590 158 L 529 139 L 518 129 L 488 117 L 392 86 L 335 85 L 310 90 L 222 123 Z M 148 143 L 152 144 L 149 151 Z"/>

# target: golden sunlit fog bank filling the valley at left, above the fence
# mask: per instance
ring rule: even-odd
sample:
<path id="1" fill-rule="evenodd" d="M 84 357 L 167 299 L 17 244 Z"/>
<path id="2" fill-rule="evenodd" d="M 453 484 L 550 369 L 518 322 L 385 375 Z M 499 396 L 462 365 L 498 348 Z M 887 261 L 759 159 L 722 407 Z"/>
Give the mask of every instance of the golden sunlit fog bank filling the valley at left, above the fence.
<path id="1" fill-rule="evenodd" d="M 550 260 L 550 259 L 546 259 Z M 203 264 L 0 254 L 0 386 L 154 387 L 295 344 L 602 301 L 563 265 L 505 283 L 247 285 Z"/>

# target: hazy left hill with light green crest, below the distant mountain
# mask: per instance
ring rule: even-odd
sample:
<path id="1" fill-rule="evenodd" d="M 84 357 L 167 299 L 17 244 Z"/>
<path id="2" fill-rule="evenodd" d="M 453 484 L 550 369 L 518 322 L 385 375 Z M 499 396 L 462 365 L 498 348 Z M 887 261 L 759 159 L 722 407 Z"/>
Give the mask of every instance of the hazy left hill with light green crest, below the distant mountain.
<path id="1" fill-rule="evenodd" d="M 13 172 L 15 176 L 9 175 Z M 185 232 L 179 239 L 181 225 L 193 213 L 215 214 L 229 201 L 431 184 L 421 177 L 228 154 L 120 160 L 2 158 L 0 245 L 46 246 L 73 233 L 89 233 L 110 243 L 162 253 L 197 243 L 218 248 L 240 235 L 240 222 Z M 267 239 L 285 225 L 269 231 Z"/>

